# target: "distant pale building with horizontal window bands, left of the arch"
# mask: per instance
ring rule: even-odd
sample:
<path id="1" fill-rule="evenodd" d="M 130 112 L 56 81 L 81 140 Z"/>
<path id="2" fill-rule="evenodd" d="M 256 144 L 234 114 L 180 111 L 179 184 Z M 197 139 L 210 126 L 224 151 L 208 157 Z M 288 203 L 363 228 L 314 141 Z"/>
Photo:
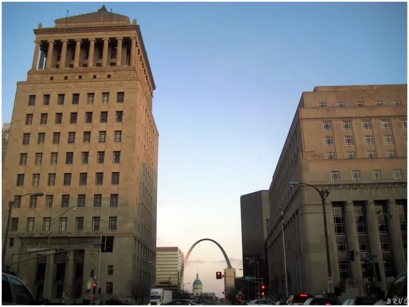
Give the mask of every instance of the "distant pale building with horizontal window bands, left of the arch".
<path id="1" fill-rule="evenodd" d="M 178 247 L 156 248 L 156 287 L 183 291 L 184 256 Z"/>

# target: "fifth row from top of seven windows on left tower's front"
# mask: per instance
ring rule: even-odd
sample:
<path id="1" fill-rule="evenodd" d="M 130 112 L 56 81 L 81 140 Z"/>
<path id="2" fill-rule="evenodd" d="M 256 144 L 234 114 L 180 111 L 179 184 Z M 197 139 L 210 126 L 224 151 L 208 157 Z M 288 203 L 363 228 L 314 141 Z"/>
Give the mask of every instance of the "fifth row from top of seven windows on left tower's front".
<path id="1" fill-rule="evenodd" d="M 63 185 L 71 185 L 71 173 L 64 173 Z M 87 185 L 88 173 L 79 174 L 79 185 Z M 95 173 L 95 185 L 102 185 L 104 178 L 104 173 Z M 55 173 L 48 174 L 48 185 L 55 185 Z M 40 184 L 40 174 L 33 174 L 32 186 L 39 186 Z M 113 172 L 111 175 L 111 184 L 119 184 L 119 173 Z M 17 186 L 24 185 L 24 174 L 17 174 Z"/>

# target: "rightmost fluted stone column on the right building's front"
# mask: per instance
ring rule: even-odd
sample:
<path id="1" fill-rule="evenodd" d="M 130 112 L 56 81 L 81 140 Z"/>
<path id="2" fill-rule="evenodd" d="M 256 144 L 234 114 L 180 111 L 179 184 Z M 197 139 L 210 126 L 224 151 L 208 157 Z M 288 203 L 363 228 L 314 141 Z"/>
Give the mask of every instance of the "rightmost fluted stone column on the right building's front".
<path id="1" fill-rule="evenodd" d="M 406 272 L 405 252 L 403 251 L 402 233 L 400 231 L 399 212 L 396 207 L 396 200 L 390 199 L 386 204 L 388 214 L 385 219 L 388 221 L 388 234 L 391 239 L 391 254 L 393 256 L 393 268 L 395 276 Z"/>

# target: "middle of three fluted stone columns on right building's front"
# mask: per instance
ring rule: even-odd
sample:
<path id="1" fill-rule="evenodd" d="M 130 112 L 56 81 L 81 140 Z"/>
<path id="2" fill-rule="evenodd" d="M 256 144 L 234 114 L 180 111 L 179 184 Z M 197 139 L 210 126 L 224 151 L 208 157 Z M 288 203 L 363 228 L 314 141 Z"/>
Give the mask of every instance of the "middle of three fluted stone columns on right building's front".
<path id="1" fill-rule="evenodd" d="M 377 282 L 377 284 L 380 286 L 381 290 L 386 293 L 389 287 L 386 286 L 385 270 L 383 266 L 383 257 L 378 231 L 378 219 L 375 213 L 375 202 L 373 200 L 368 200 L 367 203 L 365 203 L 365 220 L 367 221 L 369 251 L 371 254 L 377 255 L 376 259 L 374 260 L 373 266 L 376 262 L 379 265 L 381 281 Z M 376 271 L 374 268 L 373 272 L 374 278 L 376 280 Z"/>

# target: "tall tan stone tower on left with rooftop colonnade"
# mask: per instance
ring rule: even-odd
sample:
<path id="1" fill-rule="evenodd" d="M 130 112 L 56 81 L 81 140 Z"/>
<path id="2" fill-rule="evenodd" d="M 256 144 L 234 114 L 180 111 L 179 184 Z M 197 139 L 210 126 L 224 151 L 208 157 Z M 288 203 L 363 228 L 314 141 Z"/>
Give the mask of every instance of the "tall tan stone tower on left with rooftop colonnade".
<path id="1" fill-rule="evenodd" d="M 54 302 L 74 292 L 88 303 L 91 270 L 105 298 L 126 297 L 130 279 L 153 287 L 159 134 L 140 27 L 103 6 L 34 34 L 4 166 L 3 236 L 16 201 L 6 264 L 59 251 L 10 267 Z M 33 192 L 44 196 L 22 197 Z M 101 235 L 113 252 L 99 254 Z"/>

